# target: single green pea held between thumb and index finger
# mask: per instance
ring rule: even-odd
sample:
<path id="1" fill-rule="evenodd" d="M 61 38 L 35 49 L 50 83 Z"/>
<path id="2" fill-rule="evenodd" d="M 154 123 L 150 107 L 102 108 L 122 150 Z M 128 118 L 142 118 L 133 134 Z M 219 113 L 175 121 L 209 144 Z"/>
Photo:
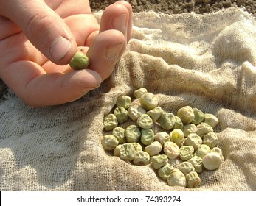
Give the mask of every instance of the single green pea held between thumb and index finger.
<path id="1" fill-rule="evenodd" d="M 75 70 L 80 70 L 87 68 L 89 63 L 90 61 L 86 54 L 83 54 L 81 51 L 77 51 L 77 53 L 75 53 L 75 55 L 70 60 L 69 65 Z"/>

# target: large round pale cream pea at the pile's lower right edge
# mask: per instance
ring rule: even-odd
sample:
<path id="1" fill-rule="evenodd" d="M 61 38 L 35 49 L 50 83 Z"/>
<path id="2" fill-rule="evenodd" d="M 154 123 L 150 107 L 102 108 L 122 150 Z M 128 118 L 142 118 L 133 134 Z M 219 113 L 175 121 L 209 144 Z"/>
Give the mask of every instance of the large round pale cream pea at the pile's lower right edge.
<path id="1" fill-rule="evenodd" d="M 222 163 L 221 155 L 216 152 L 210 152 L 203 158 L 203 165 L 208 170 L 215 170 L 219 168 Z"/>

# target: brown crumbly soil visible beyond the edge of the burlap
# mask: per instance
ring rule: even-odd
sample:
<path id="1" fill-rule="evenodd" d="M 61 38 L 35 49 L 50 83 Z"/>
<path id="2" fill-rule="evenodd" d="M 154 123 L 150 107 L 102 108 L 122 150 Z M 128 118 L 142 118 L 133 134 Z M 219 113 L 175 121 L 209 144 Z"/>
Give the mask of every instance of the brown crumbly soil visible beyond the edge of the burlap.
<path id="1" fill-rule="evenodd" d="M 104 10 L 117 0 L 90 1 L 92 12 Z M 212 13 L 229 7 L 245 7 L 249 13 L 256 16 L 255 0 L 126 0 L 130 2 L 134 13 L 153 10 L 167 14 L 177 13 Z M 7 86 L 0 79 L 0 102 Z"/>

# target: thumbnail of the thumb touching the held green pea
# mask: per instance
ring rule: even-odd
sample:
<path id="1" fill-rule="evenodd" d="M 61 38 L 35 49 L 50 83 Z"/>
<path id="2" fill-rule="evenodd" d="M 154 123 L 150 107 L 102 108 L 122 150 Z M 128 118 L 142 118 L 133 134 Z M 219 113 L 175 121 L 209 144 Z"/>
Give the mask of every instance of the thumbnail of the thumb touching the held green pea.
<path id="1" fill-rule="evenodd" d="M 66 38 L 60 38 L 49 48 L 49 54 L 53 60 L 61 60 L 71 47 L 71 42 Z"/>

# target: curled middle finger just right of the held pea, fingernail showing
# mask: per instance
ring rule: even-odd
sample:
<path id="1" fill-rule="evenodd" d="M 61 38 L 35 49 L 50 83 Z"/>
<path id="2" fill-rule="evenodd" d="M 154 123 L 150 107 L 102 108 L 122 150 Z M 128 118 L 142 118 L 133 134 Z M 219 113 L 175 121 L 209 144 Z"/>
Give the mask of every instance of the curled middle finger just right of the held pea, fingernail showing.
<path id="1" fill-rule="evenodd" d="M 100 74 L 104 80 L 108 78 L 120 57 L 125 45 L 125 36 L 118 30 L 100 32 L 87 52 L 90 60 L 89 68 Z"/>

